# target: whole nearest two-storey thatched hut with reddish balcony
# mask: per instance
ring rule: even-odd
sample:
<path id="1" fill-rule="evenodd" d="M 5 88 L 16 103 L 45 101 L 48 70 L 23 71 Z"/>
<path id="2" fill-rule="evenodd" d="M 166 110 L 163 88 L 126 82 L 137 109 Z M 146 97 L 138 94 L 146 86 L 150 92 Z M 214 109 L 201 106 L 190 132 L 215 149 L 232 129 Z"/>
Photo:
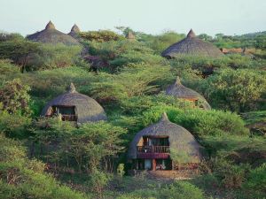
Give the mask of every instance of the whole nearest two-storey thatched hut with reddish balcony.
<path id="1" fill-rule="evenodd" d="M 200 150 L 201 146 L 193 135 L 170 122 L 164 112 L 158 123 L 135 135 L 128 158 L 132 169 L 136 170 L 175 170 L 180 164 L 196 168 L 200 163 Z"/>

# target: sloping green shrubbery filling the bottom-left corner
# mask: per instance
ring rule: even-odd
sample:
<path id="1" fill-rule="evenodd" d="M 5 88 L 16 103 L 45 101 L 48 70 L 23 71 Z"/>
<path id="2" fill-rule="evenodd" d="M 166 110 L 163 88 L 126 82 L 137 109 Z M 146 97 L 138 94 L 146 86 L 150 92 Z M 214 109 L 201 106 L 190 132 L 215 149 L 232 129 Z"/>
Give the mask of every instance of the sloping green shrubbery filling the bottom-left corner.
<path id="1" fill-rule="evenodd" d="M 85 198 L 45 174 L 43 163 L 27 159 L 25 151 L 19 142 L 0 134 L 1 198 Z"/>

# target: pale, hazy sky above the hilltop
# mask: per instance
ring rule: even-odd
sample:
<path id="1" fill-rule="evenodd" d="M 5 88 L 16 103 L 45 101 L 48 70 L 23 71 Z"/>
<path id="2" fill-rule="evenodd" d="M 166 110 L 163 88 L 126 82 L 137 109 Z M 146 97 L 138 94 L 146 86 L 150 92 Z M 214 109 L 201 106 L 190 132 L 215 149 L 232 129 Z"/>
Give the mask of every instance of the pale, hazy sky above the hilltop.
<path id="1" fill-rule="evenodd" d="M 49 20 L 64 33 L 76 23 L 82 31 L 246 34 L 266 30 L 266 0 L 0 0 L 0 31 L 33 34 Z"/>

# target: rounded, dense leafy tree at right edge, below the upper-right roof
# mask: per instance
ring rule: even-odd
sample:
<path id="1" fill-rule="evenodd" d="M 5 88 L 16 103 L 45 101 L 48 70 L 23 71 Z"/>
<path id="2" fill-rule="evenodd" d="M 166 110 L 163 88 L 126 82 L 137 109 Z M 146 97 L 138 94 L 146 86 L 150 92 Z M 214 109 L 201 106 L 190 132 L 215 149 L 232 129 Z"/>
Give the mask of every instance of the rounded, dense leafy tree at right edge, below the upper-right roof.
<path id="1" fill-rule="evenodd" d="M 207 95 L 213 104 L 231 111 L 248 111 L 265 93 L 265 74 L 253 70 L 225 69 L 207 79 Z"/>

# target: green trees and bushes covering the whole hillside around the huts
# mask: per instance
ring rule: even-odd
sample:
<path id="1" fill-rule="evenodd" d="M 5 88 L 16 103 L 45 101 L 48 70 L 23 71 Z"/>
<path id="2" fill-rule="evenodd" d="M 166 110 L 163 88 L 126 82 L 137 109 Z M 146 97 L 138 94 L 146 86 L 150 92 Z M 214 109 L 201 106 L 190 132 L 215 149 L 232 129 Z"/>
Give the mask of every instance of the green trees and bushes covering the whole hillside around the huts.
<path id="1" fill-rule="evenodd" d="M 82 32 L 80 46 L 29 42 L 0 34 L 1 198 L 263 198 L 266 195 L 265 33 L 200 38 L 218 48 L 253 48 L 221 58 L 160 57 L 184 34 L 159 35 L 117 27 Z M 125 35 L 132 32 L 135 41 Z M 82 53 L 81 53 L 82 51 Z M 83 54 L 99 57 L 90 73 Z M 166 96 L 176 75 L 211 104 Z M 93 97 L 108 120 L 74 126 L 41 118 L 45 103 L 74 85 Z M 184 126 L 206 149 L 192 180 L 154 180 L 128 174 L 135 134 L 160 119 Z M 177 164 L 187 154 L 170 151 Z"/>

